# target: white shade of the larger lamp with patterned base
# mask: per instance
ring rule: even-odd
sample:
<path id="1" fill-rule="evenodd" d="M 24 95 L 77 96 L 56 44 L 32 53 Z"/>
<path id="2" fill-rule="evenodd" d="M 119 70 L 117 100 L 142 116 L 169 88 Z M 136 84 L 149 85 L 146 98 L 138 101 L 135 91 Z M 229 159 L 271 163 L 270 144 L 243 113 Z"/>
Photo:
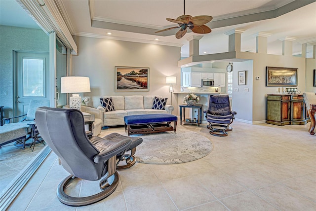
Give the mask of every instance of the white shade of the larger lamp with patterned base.
<path id="1" fill-rule="evenodd" d="M 60 93 L 91 92 L 90 78 L 81 76 L 61 77 Z"/>

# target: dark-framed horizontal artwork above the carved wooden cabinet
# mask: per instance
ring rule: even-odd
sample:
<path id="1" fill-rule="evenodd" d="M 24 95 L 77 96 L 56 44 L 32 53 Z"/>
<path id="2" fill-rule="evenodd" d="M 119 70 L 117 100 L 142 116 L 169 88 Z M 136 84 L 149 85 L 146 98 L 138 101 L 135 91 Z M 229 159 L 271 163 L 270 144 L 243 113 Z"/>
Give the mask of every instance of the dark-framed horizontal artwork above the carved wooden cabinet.
<path id="1" fill-rule="evenodd" d="M 297 68 L 266 68 L 266 86 L 297 86 Z"/>

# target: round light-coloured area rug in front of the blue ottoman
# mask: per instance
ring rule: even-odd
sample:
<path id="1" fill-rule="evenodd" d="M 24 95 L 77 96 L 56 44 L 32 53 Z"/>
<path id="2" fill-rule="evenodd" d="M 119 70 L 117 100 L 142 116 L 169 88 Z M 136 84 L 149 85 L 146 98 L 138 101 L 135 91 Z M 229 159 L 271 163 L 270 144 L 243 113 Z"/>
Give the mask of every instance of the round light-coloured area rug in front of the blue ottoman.
<path id="1" fill-rule="evenodd" d="M 179 130 L 156 134 L 132 135 L 143 142 L 136 147 L 136 161 L 148 164 L 175 164 L 194 161 L 208 155 L 212 142 L 192 131 Z"/>

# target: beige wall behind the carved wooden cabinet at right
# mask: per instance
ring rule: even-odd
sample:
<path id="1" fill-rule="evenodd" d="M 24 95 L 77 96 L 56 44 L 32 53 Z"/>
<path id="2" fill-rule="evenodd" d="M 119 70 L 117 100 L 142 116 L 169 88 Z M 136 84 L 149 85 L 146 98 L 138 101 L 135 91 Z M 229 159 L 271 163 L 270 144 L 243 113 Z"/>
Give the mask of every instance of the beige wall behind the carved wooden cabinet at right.
<path id="1" fill-rule="evenodd" d="M 276 94 L 279 87 L 266 86 L 266 67 L 284 67 L 298 69 L 298 90 L 305 91 L 306 59 L 302 57 L 246 53 L 237 54 L 238 59 L 249 59 L 253 61 L 253 67 L 248 62 L 234 63 L 234 87 L 238 92 L 233 92 L 233 105 L 237 111 L 236 118 L 249 123 L 262 123 L 266 120 L 267 94 Z M 308 59 L 316 61 L 315 59 Z M 310 61 L 311 67 L 312 61 Z M 310 69 L 311 69 L 310 67 Z M 314 65 L 315 67 L 315 65 Z M 237 71 L 247 70 L 246 86 L 237 85 Z M 256 80 L 255 77 L 260 79 Z M 249 86 L 247 85 L 249 84 Z M 249 87 L 249 93 L 243 92 L 244 87 Z M 282 87 L 281 87 L 282 88 Z M 286 88 L 286 87 L 283 87 Z M 250 91 L 252 90 L 252 92 Z M 313 89 L 315 91 L 315 89 Z M 252 108 L 252 111 L 249 110 Z M 250 115 L 252 112 L 252 115 Z"/>

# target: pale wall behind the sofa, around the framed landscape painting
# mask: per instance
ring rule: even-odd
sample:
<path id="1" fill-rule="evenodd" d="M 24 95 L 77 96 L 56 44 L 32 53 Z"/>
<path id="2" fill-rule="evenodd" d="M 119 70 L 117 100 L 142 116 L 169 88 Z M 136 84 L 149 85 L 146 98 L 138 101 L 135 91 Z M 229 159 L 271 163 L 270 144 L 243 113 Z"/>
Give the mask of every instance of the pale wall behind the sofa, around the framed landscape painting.
<path id="1" fill-rule="evenodd" d="M 103 95 L 161 95 L 170 104 L 166 76 L 177 77 L 174 89 L 180 91 L 180 47 L 83 36 L 75 36 L 75 41 L 78 55 L 72 57 L 73 75 L 90 77 L 91 93 L 81 94 L 91 97 L 90 106 L 99 106 Z M 149 68 L 149 92 L 115 92 L 115 66 Z M 176 101 L 173 106 L 177 110 Z"/>

